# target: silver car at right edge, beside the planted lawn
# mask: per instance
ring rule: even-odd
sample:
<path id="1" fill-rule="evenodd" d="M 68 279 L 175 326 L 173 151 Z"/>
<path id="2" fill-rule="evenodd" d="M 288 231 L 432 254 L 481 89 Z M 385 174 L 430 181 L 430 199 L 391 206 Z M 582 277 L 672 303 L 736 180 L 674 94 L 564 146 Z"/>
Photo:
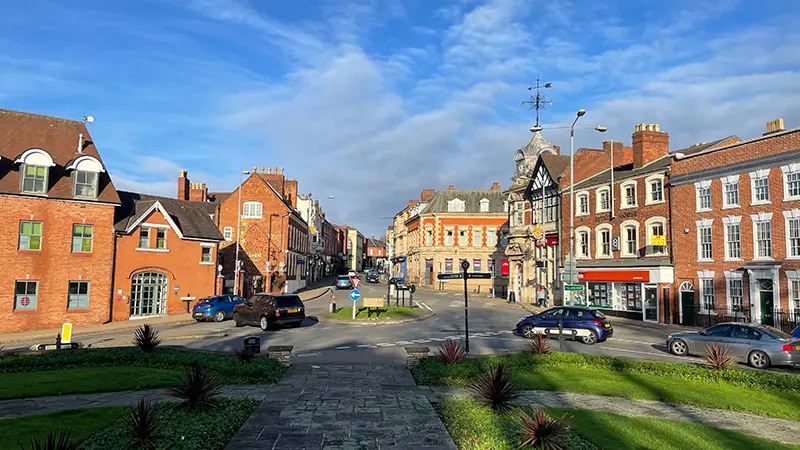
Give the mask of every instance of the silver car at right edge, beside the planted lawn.
<path id="1" fill-rule="evenodd" d="M 704 355 L 711 344 L 727 347 L 731 356 L 756 369 L 800 363 L 800 339 L 766 325 L 720 323 L 702 331 L 667 337 L 667 348 L 678 356 Z"/>

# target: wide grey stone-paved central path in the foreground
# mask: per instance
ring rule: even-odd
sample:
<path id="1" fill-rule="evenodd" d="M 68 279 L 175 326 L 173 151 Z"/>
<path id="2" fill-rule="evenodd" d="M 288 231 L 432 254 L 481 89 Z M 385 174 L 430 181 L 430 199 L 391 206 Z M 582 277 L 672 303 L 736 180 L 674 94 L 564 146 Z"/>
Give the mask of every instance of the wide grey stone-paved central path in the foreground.
<path id="1" fill-rule="evenodd" d="M 226 449 L 456 449 L 405 367 L 295 365 Z"/>

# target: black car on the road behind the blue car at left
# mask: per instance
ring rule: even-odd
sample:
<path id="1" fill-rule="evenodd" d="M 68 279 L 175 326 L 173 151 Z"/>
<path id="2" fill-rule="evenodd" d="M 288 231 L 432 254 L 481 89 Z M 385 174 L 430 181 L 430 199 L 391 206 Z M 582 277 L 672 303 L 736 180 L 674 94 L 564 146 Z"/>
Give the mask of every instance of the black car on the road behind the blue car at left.
<path id="1" fill-rule="evenodd" d="M 233 320 L 236 326 L 257 325 L 262 330 L 276 326 L 299 327 L 306 318 L 306 307 L 294 294 L 258 294 L 241 305 L 236 305 Z"/>

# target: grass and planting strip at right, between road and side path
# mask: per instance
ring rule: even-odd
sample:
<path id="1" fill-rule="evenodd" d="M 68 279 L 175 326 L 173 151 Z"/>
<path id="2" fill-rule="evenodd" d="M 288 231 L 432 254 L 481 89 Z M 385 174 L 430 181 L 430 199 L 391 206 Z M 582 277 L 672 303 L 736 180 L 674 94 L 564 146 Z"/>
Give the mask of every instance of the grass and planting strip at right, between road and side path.
<path id="1" fill-rule="evenodd" d="M 503 363 L 522 389 L 582 392 L 745 411 L 800 420 L 800 377 L 697 364 L 609 358 L 577 353 L 521 352 L 446 365 L 429 358 L 412 372 L 418 384 L 468 386 Z"/>

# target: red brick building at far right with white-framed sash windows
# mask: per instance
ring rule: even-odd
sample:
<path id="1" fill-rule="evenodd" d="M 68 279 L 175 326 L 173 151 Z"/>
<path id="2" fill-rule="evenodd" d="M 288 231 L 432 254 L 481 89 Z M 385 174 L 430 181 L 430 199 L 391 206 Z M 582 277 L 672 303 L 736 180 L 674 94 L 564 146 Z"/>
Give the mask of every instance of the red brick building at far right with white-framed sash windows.
<path id="1" fill-rule="evenodd" d="M 800 128 L 678 152 L 673 320 L 789 328 L 800 313 Z"/>

